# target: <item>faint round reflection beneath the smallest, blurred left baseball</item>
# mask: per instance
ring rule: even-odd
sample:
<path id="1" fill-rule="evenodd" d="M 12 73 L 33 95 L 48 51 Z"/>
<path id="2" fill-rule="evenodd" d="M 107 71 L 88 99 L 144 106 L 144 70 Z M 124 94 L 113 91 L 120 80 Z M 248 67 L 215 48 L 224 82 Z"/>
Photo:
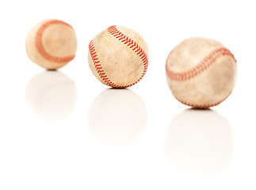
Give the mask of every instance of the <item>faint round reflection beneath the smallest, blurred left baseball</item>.
<path id="1" fill-rule="evenodd" d="M 46 70 L 30 79 L 25 99 L 41 119 L 63 120 L 75 107 L 75 82 L 59 71 Z"/>

